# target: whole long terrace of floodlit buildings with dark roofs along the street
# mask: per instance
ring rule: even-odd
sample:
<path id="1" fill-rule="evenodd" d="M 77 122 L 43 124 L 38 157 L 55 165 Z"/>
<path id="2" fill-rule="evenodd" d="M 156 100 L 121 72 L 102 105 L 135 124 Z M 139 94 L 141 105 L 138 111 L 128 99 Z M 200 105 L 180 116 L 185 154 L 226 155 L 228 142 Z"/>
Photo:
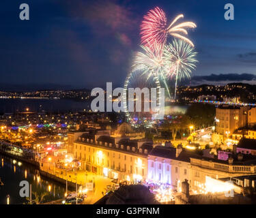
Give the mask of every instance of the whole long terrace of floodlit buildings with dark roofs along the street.
<path id="1" fill-rule="evenodd" d="M 154 145 L 146 140 L 113 137 L 111 131 L 68 134 L 70 151 L 87 172 L 117 181 L 147 181 L 180 190 L 185 179 L 191 191 L 200 193 L 206 178 L 256 174 L 256 159 L 246 153 L 225 153 L 217 159 L 200 151 Z"/>

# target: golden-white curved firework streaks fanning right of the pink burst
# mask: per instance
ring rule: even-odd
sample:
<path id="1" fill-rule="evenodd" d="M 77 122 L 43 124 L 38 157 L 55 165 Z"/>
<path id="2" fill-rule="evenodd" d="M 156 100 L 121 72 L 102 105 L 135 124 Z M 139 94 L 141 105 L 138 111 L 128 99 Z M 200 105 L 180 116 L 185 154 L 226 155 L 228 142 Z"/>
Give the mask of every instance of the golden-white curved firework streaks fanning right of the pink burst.
<path id="1" fill-rule="evenodd" d="M 191 40 L 189 40 L 187 37 L 180 35 L 180 33 L 184 33 L 185 35 L 188 35 L 188 31 L 186 31 L 186 28 L 195 28 L 195 27 L 197 27 L 197 25 L 195 25 L 194 22 L 181 22 L 180 24 L 175 25 L 177 20 L 179 20 L 180 18 L 184 18 L 183 14 L 180 14 L 179 16 L 176 16 L 174 18 L 173 22 L 171 22 L 171 24 L 167 28 L 167 31 L 173 37 L 184 40 L 185 42 L 190 44 L 190 46 L 194 47 L 193 42 L 191 42 Z M 175 26 L 173 26 L 173 25 L 175 25 Z"/>

